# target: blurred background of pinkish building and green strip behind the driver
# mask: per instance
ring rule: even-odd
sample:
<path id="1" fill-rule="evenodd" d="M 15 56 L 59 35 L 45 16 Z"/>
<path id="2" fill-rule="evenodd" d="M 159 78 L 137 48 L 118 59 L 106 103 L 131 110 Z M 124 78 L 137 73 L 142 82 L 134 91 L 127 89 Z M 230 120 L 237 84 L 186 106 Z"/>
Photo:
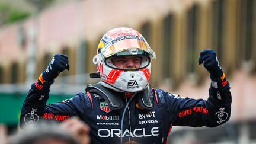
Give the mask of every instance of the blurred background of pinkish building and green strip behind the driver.
<path id="1" fill-rule="evenodd" d="M 169 143 L 256 143 L 255 0 L 0 0 L 0 139 L 17 130 L 31 84 L 56 53 L 69 56 L 48 103 L 84 92 L 96 72 L 98 42 L 108 30 L 142 33 L 157 61 L 151 85 L 182 97 L 208 97 L 198 56 L 217 52 L 231 83 L 231 120 L 216 128 L 173 127 Z"/>

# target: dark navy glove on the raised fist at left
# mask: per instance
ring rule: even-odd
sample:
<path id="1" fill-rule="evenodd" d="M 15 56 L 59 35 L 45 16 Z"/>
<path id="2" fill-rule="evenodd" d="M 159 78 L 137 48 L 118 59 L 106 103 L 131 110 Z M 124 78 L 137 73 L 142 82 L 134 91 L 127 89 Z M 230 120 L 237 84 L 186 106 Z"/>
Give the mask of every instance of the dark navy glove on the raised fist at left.
<path id="1" fill-rule="evenodd" d="M 68 56 L 58 53 L 53 57 L 46 70 L 43 72 L 43 77 L 52 81 L 65 69 L 69 70 Z"/>

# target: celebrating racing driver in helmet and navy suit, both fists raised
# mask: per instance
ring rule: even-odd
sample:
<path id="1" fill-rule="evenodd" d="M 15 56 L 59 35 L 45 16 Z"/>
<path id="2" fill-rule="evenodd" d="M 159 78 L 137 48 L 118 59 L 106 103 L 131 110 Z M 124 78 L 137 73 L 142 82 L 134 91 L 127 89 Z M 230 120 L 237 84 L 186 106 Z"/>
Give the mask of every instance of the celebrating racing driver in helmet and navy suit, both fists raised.
<path id="1" fill-rule="evenodd" d="M 100 82 L 87 85 L 69 100 L 46 105 L 50 85 L 69 70 L 68 56 L 56 54 L 31 85 L 20 126 L 39 121 L 65 121 L 78 116 L 91 127 L 91 143 L 167 143 L 172 126 L 216 127 L 231 114 L 229 82 L 213 50 L 203 50 L 199 64 L 210 73 L 209 98 L 183 98 L 151 88 L 151 62 L 156 54 L 132 28 L 108 31 L 98 44 L 93 63 Z"/>

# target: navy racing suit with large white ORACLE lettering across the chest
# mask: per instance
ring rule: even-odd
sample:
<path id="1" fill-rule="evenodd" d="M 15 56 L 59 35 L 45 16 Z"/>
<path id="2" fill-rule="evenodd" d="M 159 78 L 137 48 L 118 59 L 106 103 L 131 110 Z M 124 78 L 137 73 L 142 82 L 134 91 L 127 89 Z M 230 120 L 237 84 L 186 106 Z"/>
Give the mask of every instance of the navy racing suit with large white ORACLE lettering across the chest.
<path id="1" fill-rule="evenodd" d="M 93 92 L 81 92 L 69 100 L 46 105 L 49 90 L 43 89 L 49 89 L 50 84 L 42 84 L 38 79 L 32 85 L 21 110 L 21 127 L 78 116 L 91 127 L 91 143 L 120 143 L 120 137 L 123 143 L 167 143 L 172 126 L 216 127 L 228 121 L 231 114 L 231 92 L 226 78 L 212 82 L 207 100 L 183 98 L 152 88 L 152 110 L 140 107 L 135 95 L 124 113 L 121 133 L 124 107 L 111 110 L 105 99 Z M 121 100 L 126 105 L 127 99 Z"/>

